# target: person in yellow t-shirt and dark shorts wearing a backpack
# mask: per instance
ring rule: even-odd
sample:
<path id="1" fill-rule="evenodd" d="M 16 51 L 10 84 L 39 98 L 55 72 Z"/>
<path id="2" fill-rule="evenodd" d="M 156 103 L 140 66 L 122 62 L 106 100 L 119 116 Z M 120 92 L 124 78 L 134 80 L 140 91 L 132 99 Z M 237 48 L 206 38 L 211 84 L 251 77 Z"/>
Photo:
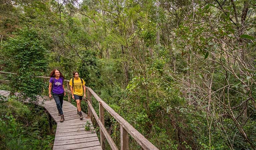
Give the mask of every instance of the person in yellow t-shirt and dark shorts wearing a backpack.
<path id="1" fill-rule="evenodd" d="M 82 78 L 79 78 L 79 74 L 77 71 L 73 72 L 73 78 L 70 79 L 69 85 L 72 99 L 75 99 L 76 101 L 77 114 L 80 116 L 80 119 L 82 120 L 83 115 L 81 112 L 81 100 L 83 97 L 85 98 L 85 82 Z"/>

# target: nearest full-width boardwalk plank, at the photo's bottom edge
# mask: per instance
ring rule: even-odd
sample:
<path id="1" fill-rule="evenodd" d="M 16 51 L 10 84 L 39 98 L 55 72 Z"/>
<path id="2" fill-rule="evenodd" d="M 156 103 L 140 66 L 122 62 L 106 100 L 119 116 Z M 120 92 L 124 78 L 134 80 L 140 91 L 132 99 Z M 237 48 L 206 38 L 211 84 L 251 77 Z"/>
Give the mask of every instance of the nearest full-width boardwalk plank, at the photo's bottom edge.
<path id="1" fill-rule="evenodd" d="M 78 149 L 78 148 L 86 148 L 92 146 L 98 146 L 99 141 L 92 141 L 86 143 L 76 143 L 76 144 L 68 144 L 68 145 L 53 145 L 54 150 L 71 150 L 71 149 Z"/>

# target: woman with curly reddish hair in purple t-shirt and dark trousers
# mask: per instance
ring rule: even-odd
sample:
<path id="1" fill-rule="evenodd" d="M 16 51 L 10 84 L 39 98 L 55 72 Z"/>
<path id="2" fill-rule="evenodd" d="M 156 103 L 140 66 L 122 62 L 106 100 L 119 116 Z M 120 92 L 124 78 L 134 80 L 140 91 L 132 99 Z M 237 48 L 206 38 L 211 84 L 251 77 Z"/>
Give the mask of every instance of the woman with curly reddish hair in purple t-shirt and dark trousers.
<path id="1" fill-rule="evenodd" d="M 51 79 L 49 81 L 49 97 L 54 98 L 60 115 L 60 122 L 63 122 L 65 119 L 62 111 L 62 104 L 63 97 L 66 95 L 63 85 L 64 76 L 59 70 L 53 69 L 50 73 L 50 77 Z"/>

